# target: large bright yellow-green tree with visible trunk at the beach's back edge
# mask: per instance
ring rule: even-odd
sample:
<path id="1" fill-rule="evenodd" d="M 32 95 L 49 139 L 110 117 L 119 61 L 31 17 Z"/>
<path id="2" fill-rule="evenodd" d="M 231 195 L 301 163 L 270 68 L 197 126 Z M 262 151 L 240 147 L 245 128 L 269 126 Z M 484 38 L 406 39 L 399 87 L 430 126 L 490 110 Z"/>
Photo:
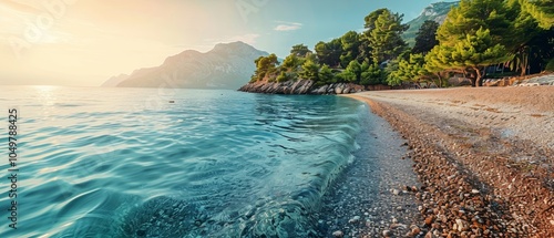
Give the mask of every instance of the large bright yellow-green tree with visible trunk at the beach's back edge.
<path id="1" fill-rule="evenodd" d="M 480 86 L 484 68 L 507 61 L 510 49 L 521 43 L 511 37 L 517 18 L 504 0 L 462 0 L 437 32 L 431 64 L 464 73 Z"/>

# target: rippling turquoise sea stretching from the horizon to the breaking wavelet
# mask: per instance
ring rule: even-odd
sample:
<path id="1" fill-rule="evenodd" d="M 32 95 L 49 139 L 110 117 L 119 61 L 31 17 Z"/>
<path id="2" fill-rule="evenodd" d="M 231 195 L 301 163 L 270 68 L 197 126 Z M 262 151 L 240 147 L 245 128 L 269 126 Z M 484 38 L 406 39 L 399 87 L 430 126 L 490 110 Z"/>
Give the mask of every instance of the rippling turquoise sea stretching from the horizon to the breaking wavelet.
<path id="1" fill-rule="evenodd" d="M 0 237 L 314 236 L 320 198 L 353 159 L 368 113 L 338 96 L 0 92 L 1 124 L 8 108 L 20 116 L 18 229 L 8 227 L 11 199 L 2 193 Z M 7 178 L 1 185 L 9 190 Z"/>

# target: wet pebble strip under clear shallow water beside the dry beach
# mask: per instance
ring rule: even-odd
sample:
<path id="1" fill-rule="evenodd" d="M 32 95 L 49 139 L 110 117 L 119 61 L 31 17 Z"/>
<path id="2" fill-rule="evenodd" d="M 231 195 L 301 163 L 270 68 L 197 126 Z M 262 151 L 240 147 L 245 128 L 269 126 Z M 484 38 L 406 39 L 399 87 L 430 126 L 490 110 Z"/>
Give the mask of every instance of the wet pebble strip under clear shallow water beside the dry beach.
<path id="1" fill-rule="evenodd" d="M 318 237 L 402 237 L 421 227 L 416 198 L 407 190 L 420 184 L 413 163 L 401 159 L 407 141 L 365 107 L 355 159 L 321 197 Z"/>

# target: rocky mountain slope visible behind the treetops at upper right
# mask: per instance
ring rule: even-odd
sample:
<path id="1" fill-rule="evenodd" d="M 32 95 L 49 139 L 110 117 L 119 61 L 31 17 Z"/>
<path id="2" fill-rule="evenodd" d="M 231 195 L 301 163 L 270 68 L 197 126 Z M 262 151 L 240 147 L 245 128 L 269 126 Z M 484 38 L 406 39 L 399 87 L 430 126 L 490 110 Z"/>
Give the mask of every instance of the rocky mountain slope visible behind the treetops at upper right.
<path id="1" fill-rule="evenodd" d="M 423 9 L 423 12 L 421 12 L 419 17 L 407 23 L 408 25 L 410 25 L 410 29 L 408 29 L 408 31 L 402 34 L 406 42 L 410 45 L 413 45 L 413 43 L 416 43 L 416 34 L 418 33 L 423 22 L 425 22 L 427 20 L 432 20 L 439 22 L 439 24 L 442 24 L 442 22 L 444 22 L 444 19 L 447 19 L 447 14 L 450 12 L 450 9 L 452 7 L 458 7 L 459 3 L 459 1 L 435 2 Z"/>

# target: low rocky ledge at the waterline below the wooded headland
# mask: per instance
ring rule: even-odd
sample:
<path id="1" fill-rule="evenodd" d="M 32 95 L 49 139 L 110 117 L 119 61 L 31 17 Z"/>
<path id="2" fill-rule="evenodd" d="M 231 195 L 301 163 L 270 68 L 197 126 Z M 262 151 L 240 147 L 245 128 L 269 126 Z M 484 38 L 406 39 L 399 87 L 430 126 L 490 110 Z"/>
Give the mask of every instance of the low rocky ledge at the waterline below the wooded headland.
<path id="1" fill-rule="evenodd" d="M 268 94 L 348 94 L 358 93 L 367 89 L 366 86 L 352 83 L 334 83 L 322 86 L 314 85 L 311 80 L 298 80 L 287 82 L 255 82 L 242 86 L 238 91 L 249 93 L 268 93 Z"/>

